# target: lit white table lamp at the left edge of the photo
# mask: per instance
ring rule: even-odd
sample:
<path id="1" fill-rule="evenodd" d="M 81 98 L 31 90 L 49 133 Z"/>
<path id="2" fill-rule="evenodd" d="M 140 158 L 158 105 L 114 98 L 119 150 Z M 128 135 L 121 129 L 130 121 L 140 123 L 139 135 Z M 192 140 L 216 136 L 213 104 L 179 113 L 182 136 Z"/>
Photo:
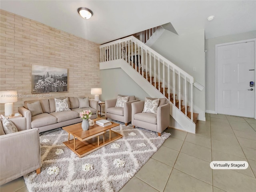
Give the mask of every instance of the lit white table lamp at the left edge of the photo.
<path id="1" fill-rule="evenodd" d="M 5 116 L 12 116 L 14 102 L 17 102 L 17 91 L 1 91 L 0 92 L 0 103 L 4 103 Z"/>

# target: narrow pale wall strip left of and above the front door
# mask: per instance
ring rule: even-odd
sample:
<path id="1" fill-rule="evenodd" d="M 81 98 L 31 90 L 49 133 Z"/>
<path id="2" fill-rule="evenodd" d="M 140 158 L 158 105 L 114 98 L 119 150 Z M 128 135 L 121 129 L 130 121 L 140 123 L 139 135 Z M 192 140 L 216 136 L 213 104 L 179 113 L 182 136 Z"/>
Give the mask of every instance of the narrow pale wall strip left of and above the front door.
<path id="1" fill-rule="evenodd" d="M 215 45 L 256 38 L 256 31 L 221 36 L 205 40 L 206 52 L 206 112 L 215 112 Z"/>

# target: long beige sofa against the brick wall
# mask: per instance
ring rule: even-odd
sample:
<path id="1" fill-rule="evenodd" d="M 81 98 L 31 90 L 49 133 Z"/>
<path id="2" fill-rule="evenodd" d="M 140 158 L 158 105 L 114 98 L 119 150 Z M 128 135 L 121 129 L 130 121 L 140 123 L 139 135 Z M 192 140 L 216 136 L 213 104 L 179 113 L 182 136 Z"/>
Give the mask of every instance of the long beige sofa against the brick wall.
<path id="1" fill-rule="evenodd" d="M 68 108 L 70 110 L 56 112 L 55 101 L 54 99 L 43 99 L 39 100 L 40 105 L 42 107 L 42 113 L 36 114 L 32 116 L 30 110 L 28 110 L 28 104 L 32 104 L 37 102 L 34 101 L 24 101 L 24 106 L 19 107 L 18 111 L 22 116 L 26 117 L 26 126 L 27 129 L 30 128 L 38 128 L 39 132 L 44 132 L 48 130 L 52 130 L 55 128 L 68 126 L 71 124 L 82 122 L 82 119 L 79 116 L 79 113 L 82 110 L 91 110 L 92 116 L 91 119 L 97 118 L 98 116 L 98 101 L 89 99 L 89 105 L 86 108 L 79 108 L 81 106 L 81 102 L 77 97 L 65 97 L 68 98 Z M 58 99 L 65 99 L 58 98 Z"/>

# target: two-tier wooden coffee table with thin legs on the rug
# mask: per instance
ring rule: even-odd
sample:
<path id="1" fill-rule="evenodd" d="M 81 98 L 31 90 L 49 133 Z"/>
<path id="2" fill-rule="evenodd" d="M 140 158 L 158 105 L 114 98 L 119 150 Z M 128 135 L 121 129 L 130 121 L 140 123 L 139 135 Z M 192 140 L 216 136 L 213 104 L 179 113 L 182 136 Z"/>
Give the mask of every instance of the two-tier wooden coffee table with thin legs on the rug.
<path id="1" fill-rule="evenodd" d="M 100 119 L 102 118 L 94 119 L 94 122 Z M 83 157 L 123 137 L 121 134 L 111 130 L 111 128 L 119 124 L 111 123 L 111 125 L 106 127 L 94 124 L 87 131 L 82 130 L 82 122 L 62 127 L 63 130 L 68 132 L 68 140 L 63 143 L 79 157 Z M 106 130 L 109 130 L 109 134 L 106 134 Z M 73 140 L 70 140 L 70 134 L 74 136 Z"/>

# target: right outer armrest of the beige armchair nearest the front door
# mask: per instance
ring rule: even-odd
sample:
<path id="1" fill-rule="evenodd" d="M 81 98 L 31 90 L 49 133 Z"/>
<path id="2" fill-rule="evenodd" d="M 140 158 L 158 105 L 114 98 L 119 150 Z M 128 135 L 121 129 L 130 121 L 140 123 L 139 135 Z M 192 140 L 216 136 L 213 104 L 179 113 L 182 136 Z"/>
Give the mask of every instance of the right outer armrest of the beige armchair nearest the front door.
<path id="1" fill-rule="evenodd" d="M 157 108 L 156 111 L 157 132 L 162 133 L 170 125 L 170 103 Z"/>

